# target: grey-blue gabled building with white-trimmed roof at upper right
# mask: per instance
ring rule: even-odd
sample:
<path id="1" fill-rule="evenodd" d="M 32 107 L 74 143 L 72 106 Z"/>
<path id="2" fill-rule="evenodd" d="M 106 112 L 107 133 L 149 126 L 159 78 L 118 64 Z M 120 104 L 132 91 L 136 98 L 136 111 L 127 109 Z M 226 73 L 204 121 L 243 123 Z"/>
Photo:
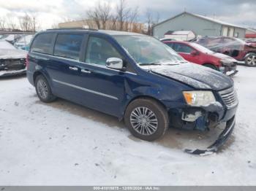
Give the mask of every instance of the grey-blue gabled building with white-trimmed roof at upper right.
<path id="1" fill-rule="evenodd" d="M 200 36 L 232 36 L 244 38 L 246 28 L 210 17 L 182 12 L 153 26 L 153 35 L 163 38 L 167 31 L 193 31 Z"/>

